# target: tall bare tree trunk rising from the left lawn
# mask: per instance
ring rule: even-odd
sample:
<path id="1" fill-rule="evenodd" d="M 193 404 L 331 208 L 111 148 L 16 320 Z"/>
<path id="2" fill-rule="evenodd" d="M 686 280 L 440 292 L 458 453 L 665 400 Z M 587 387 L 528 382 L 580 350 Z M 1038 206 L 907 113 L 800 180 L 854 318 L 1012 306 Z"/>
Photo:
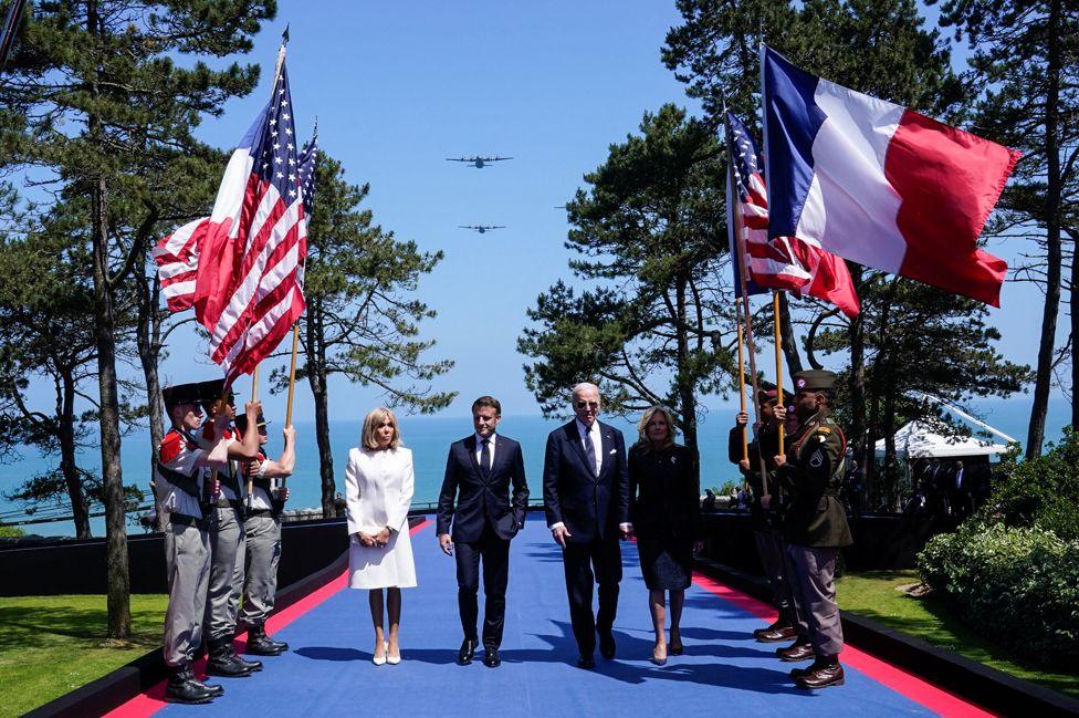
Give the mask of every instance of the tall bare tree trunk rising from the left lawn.
<path id="1" fill-rule="evenodd" d="M 132 633 L 127 527 L 124 522 L 124 474 L 121 467 L 119 396 L 116 386 L 116 329 L 113 288 L 108 279 L 106 187 L 102 178 L 92 189 L 94 251 L 94 333 L 97 340 L 97 382 L 101 400 L 102 499 L 105 503 L 105 565 L 107 571 L 108 637 Z"/>

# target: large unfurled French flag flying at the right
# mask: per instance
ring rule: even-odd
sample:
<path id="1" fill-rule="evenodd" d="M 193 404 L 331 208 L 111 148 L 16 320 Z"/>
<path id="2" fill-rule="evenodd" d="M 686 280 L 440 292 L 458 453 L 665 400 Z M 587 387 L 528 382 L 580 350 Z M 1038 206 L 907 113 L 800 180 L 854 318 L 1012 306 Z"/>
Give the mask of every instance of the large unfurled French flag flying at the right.
<path id="1" fill-rule="evenodd" d="M 799 70 L 761 46 L 768 236 L 1001 305 L 977 248 L 1019 153 Z"/>

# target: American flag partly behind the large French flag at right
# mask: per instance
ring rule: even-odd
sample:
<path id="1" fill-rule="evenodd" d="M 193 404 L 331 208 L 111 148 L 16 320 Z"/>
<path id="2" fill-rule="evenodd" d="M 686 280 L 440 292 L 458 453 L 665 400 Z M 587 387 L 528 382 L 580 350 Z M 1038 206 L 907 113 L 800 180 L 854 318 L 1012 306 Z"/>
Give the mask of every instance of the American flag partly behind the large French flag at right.
<path id="1" fill-rule="evenodd" d="M 738 196 L 733 202 L 732 198 L 727 200 L 729 227 L 736 246 L 734 251 L 745 253 L 748 293 L 756 293 L 754 284 L 790 290 L 829 301 L 848 316 L 858 314 L 858 295 L 841 259 L 824 251 L 820 243 L 811 239 L 768 239 L 768 190 L 762 174 L 761 154 L 745 125 L 730 112 L 726 113 L 726 145 L 731 165 L 729 181 Z M 736 216 L 741 222 L 735 221 Z M 738 223 L 741 238 L 734 236 Z M 737 254 L 733 256 L 737 258 Z M 735 264 L 737 267 L 737 260 Z M 741 293 L 741 288 L 736 288 L 736 292 Z"/>

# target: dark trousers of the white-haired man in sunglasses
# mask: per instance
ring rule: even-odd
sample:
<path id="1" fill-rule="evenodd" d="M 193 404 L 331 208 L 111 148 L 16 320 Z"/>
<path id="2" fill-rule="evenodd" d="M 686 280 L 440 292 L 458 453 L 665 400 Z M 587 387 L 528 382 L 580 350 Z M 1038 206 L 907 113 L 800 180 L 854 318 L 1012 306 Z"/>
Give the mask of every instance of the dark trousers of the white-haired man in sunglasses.
<path id="1" fill-rule="evenodd" d="M 584 656 L 596 651 L 596 629 L 608 632 L 618 611 L 618 582 L 622 580 L 622 552 L 618 537 L 589 543 L 566 543 L 562 553 L 569 596 L 569 622 L 577 648 Z M 593 617 L 591 586 L 599 584 L 599 611 Z"/>

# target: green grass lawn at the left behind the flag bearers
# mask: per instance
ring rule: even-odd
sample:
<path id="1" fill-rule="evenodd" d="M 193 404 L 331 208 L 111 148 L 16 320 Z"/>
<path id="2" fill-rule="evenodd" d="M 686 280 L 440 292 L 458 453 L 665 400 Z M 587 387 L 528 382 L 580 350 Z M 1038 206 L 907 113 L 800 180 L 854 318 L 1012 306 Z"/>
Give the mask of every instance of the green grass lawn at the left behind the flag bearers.
<path id="1" fill-rule="evenodd" d="M 0 599 L 0 716 L 22 715 L 160 646 L 167 602 L 133 595 L 133 636 L 111 642 L 103 595 Z"/>

